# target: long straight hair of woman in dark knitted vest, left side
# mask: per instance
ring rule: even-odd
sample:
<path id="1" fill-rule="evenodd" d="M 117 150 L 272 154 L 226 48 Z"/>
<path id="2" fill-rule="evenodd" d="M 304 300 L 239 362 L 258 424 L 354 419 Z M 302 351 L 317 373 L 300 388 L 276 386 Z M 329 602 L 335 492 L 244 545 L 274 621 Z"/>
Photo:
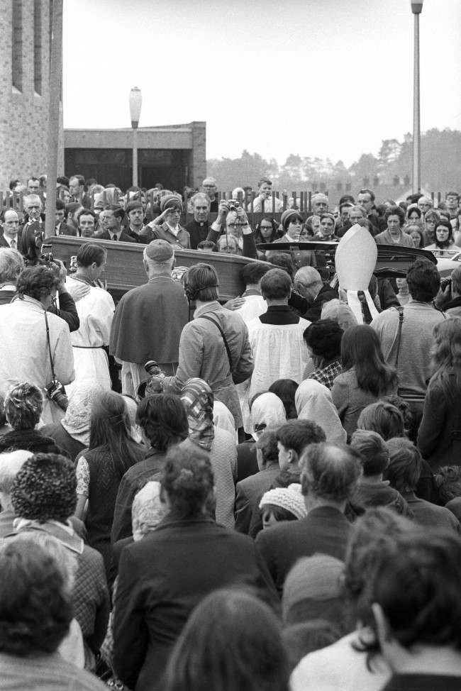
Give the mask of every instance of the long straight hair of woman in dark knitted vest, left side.
<path id="1" fill-rule="evenodd" d="M 135 443 L 130 439 L 130 429 L 128 409 L 121 394 L 101 393 L 91 411 L 89 450 L 105 451 L 119 477 L 138 460 L 133 453 Z"/>

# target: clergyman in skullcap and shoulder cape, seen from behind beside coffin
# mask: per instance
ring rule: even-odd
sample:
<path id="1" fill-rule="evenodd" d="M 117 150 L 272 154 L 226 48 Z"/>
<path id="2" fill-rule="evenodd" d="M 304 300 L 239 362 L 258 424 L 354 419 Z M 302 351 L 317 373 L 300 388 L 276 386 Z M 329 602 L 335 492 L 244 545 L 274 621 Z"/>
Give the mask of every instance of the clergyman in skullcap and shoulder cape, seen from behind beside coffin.
<path id="1" fill-rule="evenodd" d="M 152 241 L 145 247 L 143 265 L 148 282 L 129 290 L 118 303 L 109 346 L 122 363 L 122 392 L 130 396 L 148 380 L 148 360 L 156 360 L 167 375 L 176 373 L 179 338 L 189 317 L 182 284 L 172 278 L 173 245 Z"/>

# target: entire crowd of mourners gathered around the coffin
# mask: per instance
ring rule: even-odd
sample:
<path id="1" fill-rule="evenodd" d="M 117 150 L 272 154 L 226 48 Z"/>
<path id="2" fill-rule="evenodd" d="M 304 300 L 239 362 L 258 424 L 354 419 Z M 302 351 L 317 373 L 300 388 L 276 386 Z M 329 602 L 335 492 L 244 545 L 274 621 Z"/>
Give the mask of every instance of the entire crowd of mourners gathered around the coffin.
<path id="1" fill-rule="evenodd" d="M 461 268 L 365 266 L 348 304 L 318 245 L 283 250 L 445 252 L 460 196 L 57 184 L 73 267 L 46 179 L 2 211 L 0 690 L 460 689 Z M 116 302 L 98 238 L 143 244 Z M 182 248 L 265 261 L 223 302 Z"/>

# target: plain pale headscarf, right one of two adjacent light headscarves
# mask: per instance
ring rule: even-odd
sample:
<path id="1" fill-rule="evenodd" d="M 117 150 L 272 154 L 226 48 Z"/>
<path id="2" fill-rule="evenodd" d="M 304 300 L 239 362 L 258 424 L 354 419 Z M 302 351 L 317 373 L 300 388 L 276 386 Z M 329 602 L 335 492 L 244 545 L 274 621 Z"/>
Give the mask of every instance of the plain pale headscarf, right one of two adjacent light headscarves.
<path id="1" fill-rule="evenodd" d="M 329 443 L 345 443 L 347 435 L 333 404 L 330 389 L 315 379 L 306 379 L 294 394 L 294 403 L 299 420 L 312 420 L 320 425 Z"/>

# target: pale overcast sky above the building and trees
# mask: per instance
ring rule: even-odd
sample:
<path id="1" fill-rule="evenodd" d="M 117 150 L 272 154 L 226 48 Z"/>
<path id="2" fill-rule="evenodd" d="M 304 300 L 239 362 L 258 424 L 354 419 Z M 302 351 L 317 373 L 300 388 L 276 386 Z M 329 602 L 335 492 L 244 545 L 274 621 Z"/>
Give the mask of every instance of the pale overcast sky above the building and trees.
<path id="1" fill-rule="evenodd" d="M 64 125 L 204 120 L 207 157 L 377 154 L 413 123 L 410 0 L 65 0 Z M 421 129 L 461 129 L 461 0 L 425 0 Z"/>

